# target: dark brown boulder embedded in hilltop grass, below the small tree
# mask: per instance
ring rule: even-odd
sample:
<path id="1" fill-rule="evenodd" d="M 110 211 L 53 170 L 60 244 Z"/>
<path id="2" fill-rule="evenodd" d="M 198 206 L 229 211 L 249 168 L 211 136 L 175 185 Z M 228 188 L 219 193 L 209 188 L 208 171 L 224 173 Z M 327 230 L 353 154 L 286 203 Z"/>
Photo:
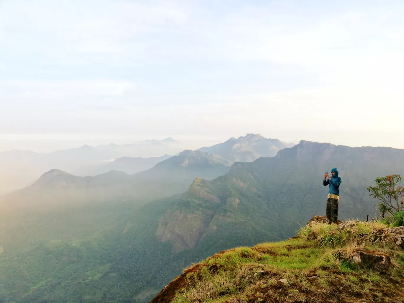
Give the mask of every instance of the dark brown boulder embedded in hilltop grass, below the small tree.
<path id="1" fill-rule="evenodd" d="M 362 248 L 353 252 L 352 261 L 361 267 L 372 268 L 377 271 L 387 271 L 391 265 L 389 255 Z"/>

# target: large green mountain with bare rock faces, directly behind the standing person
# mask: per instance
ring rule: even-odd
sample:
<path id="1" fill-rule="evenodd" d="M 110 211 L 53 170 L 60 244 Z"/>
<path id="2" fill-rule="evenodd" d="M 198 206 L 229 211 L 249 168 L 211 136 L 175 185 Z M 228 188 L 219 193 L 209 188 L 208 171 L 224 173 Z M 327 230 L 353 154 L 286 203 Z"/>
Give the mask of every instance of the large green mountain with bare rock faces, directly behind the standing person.
<path id="1" fill-rule="evenodd" d="M 371 217 L 376 202 L 368 196 L 366 187 L 378 176 L 403 175 L 403 159 L 402 149 L 301 141 L 279 151 L 274 158 L 234 163 L 229 173 L 215 180 L 196 179 L 160 219 L 156 235 L 162 241 L 170 240 L 175 251 L 194 248 L 204 241 L 212 246 L 215 241 L 204 239 L 217 235 L 227 238 L 226 243 L 230 239 L 239 241 L 242 238 L 236 237 L 235 230 L 240 224 L 260 235 L 260 240 L 287 238 L 299 224 L 324 213 L 328 188 L 322 186 L 322 177 L 332 167 L 339 168 L 343 178 L 339 216 Z"/>

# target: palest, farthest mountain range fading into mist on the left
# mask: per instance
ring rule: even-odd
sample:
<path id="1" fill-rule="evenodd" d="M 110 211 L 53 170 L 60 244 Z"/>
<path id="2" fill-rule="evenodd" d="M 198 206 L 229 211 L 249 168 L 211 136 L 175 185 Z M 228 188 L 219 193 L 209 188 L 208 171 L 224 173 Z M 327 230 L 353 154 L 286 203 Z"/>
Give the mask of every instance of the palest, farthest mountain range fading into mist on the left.
<path id="1" fill-rule="evenodd" d="M 0 152 L 0 195 L 23 188 L 34 182 L 42 173 L 59 169 L 74 175 L 96 175 L 105 164 L 121 157 L 160 157 L 165 154 L 178 154 L 183 149 L 171 139 L 150 140 L 126 145 L 99 145 L 59 150 L 51 153 L 36 153 L 26 150 Z M 164 160 L 164 159 L 162 159 Z M 140 161 L 141 162 L 141 161 Z M 153 160 L 145 160 L 146 169 L 152 167 Z M 151 165 L 151 166 L 150 166 Z M 139 164 L 139 169 L 144 164 Z M 142 167 L 143 166 L 143 167 Z M 140 170 L 137 170 L 140 171 Z M 132 170 L 131 170 L 132 172 Z"/>

